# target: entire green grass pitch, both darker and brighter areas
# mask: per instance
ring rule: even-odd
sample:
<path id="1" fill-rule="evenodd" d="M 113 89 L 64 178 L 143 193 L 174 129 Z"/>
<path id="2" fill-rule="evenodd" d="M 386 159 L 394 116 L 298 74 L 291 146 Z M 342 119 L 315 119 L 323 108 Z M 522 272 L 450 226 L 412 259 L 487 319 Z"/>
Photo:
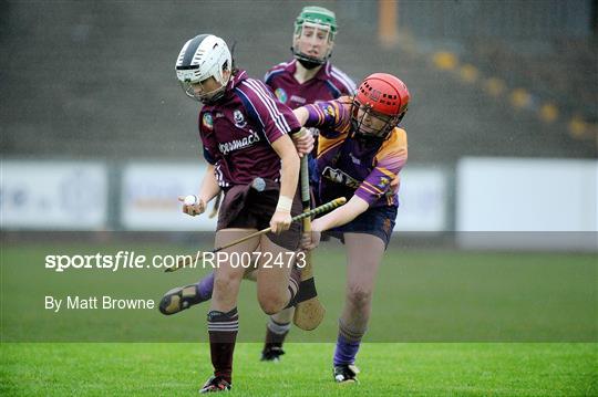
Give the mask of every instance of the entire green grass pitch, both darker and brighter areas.
<path id="1" fill-rule="evenodd" d="M 43 269 L 50 253 L 192 250 L 138 241 L 134 245 L 2 242 L 0 395 L 197 391 L 212 370 L 205 344 L 207 305 L 169 317 L 156 310 L 54 314 L 43 309 L 47 294 L 157 301 L 169 288 L 206 273 Z M 266 316 L 256 302 L 255 284 L 241 284 L 236 395 L 598 395 L 598 264 L 592 254 L 391 247 L 358 356 L 362 374 L 357 387 L 336 385 L 330 368 L 343 302 L 344 253 L 328 243 L 315 258 L 327 315 L 315 332 L 293 328 L 295 343 L 287 344 L 279 365 L 258 361 Z"/>

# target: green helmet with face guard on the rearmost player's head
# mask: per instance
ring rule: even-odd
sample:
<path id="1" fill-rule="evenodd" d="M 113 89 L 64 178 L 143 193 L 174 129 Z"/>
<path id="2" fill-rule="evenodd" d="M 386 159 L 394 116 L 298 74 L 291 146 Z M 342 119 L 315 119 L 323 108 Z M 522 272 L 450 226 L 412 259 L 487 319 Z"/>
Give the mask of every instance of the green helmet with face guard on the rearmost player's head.
<path id="1" fill-rule="evenodd" d="M 337 18 L 332 11 L 322 7 L 306 7 L 295 21 L 292 53 L 308 69 L 324 64 L 332 54 L 336 34 Z M 318 52 L 313 51 L 317 48 L 321 48 L 320 53 L 310 54 Z"/>

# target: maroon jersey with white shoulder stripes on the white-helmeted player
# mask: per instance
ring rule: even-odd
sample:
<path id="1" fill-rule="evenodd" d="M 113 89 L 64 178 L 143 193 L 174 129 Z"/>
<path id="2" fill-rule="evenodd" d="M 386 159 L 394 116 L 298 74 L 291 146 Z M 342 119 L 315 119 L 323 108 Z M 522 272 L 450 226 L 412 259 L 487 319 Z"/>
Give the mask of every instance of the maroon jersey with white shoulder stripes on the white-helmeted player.
<path id="1" fill-rule="evenodd" d="M 292 111 L 260 81 L 238 71 L 225 96 L 199 112 L 199 135 L 206 161 L 215 166 L 223 188 L 261 177 L 280 178 L 280 157 L 271 144 L 301 126 Z"/>

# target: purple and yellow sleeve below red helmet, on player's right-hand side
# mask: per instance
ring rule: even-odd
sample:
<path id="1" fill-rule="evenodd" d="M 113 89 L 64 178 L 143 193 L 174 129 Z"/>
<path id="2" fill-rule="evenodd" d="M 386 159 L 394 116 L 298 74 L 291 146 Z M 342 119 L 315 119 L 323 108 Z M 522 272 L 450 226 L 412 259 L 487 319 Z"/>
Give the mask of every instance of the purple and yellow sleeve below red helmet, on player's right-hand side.
<path id="1" fill-rule="evenodd" d="M 395 132 L 398 136 L 385 143 L 377 155 L 374 169 L 361 182 L 355 195 L 370 206 L 382 196 L 399 188 L 399 173 L 408 159 L 406 134 L 402 129 Z M 395 191 L 392 191 L 395 192 Z"/>

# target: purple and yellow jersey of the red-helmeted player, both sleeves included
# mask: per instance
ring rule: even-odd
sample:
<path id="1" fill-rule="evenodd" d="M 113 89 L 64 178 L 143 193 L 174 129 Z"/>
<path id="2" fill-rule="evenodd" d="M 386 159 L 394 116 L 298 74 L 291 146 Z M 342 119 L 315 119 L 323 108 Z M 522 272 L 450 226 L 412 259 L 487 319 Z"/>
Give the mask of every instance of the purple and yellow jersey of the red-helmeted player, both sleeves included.
<path id="1" fill-rule="evenodd" d="M 307 127 L 320 129 L 318 196 L 322 202 L 357 195 L 370 207 L 399 206 L 399 171 L 408 159 L 406 133 L 395 127 L 381 144 L 351 138 L 351 98 L 306 106 Z"/>

